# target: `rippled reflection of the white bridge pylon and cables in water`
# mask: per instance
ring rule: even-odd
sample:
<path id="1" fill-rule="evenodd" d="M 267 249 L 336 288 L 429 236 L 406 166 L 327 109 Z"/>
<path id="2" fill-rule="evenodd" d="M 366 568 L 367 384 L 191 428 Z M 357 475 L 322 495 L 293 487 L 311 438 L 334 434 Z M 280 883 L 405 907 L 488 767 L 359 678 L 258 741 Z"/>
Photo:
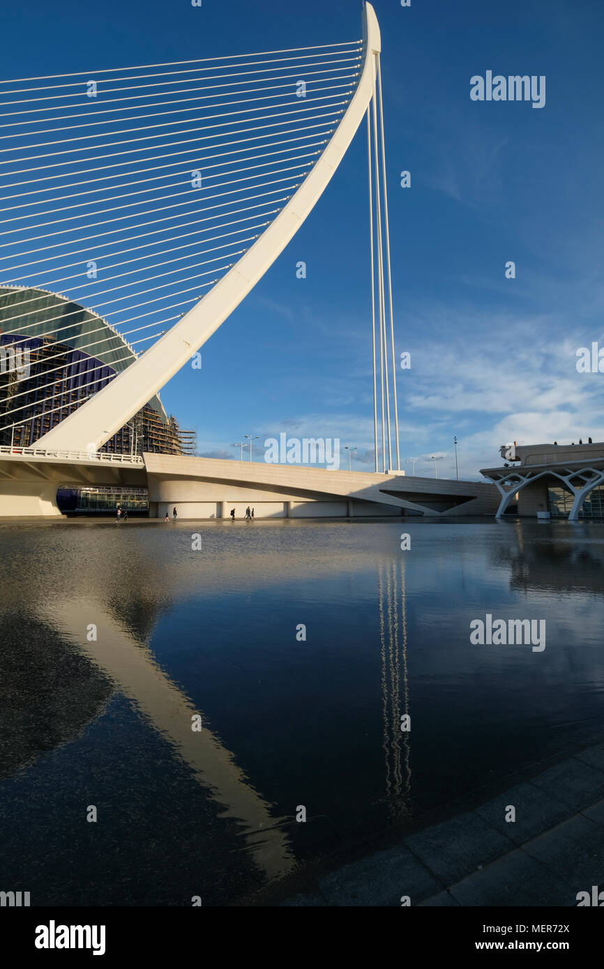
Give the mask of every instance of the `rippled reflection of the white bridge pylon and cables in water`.
<path id="1" fill-rule="evenodd" d="M 24 530 L 26 572 L 37 560 L 39 542 L 47 537 L 52 541 L 48 532 L 50 526 L 43 527 L 46 535 L 41 535 L 39 526 L 33 524 Z M 39 583 L 32 583 L 23 581 L 21 571 L 7 569 L 6 564 L 4 567 L 7 600 L 17 615 L 29 614 L 32 623 L 38 627 L 31 640 L 45 641 L 47 662 L 48 646 L 53 650 L 49 655 L 57 667 L 54 671 L 55 675 L 58 673 L 57 679 L 69 686 L 70 670 L 73 670 L 70 652 L 89 663 L 89 666 L 79 666 L 78 695 L 67 692 L 63 696 L 63 707 L 69 711 L 66 713 L 69 724 L 55 734 L 56 745 L 69 746 L 89 723 L 106 715 L 112 694 L 122 695 L 134 704 L 147 727 L 167 742 L 172 755 L 191 771 L 206 795 L 218 806 L 218 817 L 232 819 L 237 824 L 238 833 L 247 845 L 246 858 L 263 880 L 282 877 L 297 863 L 289 833 L 292 825 L 296 827 L 294 815 L 279 813 L 270 799 L 256 790 L 238 766 L 237 752 L 228 749 L 219 735 L 208 729 L 204 711 L 192 702 L 170 673 L 162 669 L 149 645 L 162 616 L 174 610 L 179 601 L 195 595 L 199 585 L 195 556 L 181 561 L 182 567 L 175 572 L 171 563 L 163 562 L 161 557 L 144 555 L 144 538 L 140 541 L 139 536 L 144 536 L 145 532 L 151 536 L 145 526 L 139 532 L 135 531 L 136 525 L 130 524 L 104 527 L 111 528 L 109 542 L 104 541 L 99 526 L 72 524 L 68 531 L 61 530 L 63 540 L 66 535 L 73 539 L 73 555 L 62 560 L 61 576 L 56 586 L 48 574 L 41 576 Z M 20 534 L 20 530 L 14 527 L 11 531 Z M 171 538 L 176 534 L 176 530 L 173 531 Z M 128 552 L 124 557 L 114 557 L 116 546 L 113 540 L 117 536 L 127 540 Z M 188 536 L 182 533 L 182 537 L 189 542 Z M 155 532 L 153 541 L 157 542 L 158 538 L 161 539 L 160 533 Z M 345 552 L 328 553 L 323 570 L 343 569 L 346 560 Z M 232 564 L 233 560 L 229 559 L 221 570 L 216 563 L 216 585 L 220 584 L 221 571 L 224 575 L 231 573 L 233 578 Z M 267 559 L 262 564 L 265 580 L 270 581 L 282 570 L 279 555 L 276 561 Z M 356 568 L 362 564 L 365 563 L 357 562 Z M 315 573 L 314 556 L 306 564 L 298 561 L 299 574 L 306 571 L 306 566 L 308 575 Z M 239 561 L 238 569 L 241 567 Z M 380 665 L 385 797 L 391 823 L 397 824 L 408 815 L 411 783 L 410 735 L 400 730 L 400 717 L 409 712 L 404 564 L 396 560 L 380 562 L 374 576 L 379 656 L 377 650 L 373 655 L 376 672 L 377 664 Z M 124 590 L 127 590 L 128 605 L 124 601 Z M 41 634 L 40 630 L 48 632 Z M 52 636 L 48 637 L 50 632 Z M 33 660 L 38 665 L 35 657 Z M 48 674 L 48 669 L 44 669 Z M 88 681 L 97 685 L 91 690 L 83 685 Z M 39 688 L 38 683 L 32 691 L 29 700 L 32 707 L 40 707 L 41 698 L 36 693 Z M 27 703 L 26 692 L 21 702 Z M 27 718 L 27 710 L 21 712 Z M 44 710 L 45 716 L 47 712 Z M 196 714 L 202 716 L 201 733 L 191 729 Z M 5 776 L 22 766 L 33 766 L 51 749 L 48 744 L 39 742 L 39 736 L 30 739 L 27 754 L 21 750 L 16 759 L 5 762 Z M 127 745 L 127 737 L 124 737 L 124 748 Z M 9 743 L 9 748 L 13 747 L 14 744 Z"/>

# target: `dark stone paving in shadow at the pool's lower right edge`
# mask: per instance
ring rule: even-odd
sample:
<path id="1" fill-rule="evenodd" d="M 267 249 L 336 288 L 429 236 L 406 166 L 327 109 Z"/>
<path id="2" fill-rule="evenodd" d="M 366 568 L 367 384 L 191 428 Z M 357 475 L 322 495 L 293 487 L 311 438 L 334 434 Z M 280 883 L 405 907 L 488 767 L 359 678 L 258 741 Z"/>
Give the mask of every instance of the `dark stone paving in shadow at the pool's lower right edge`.
<path id="1" fill-rule="evenodd" d="M 282 904 L 398 907 L 406 895 L 421 906 L 575 906 L 593 885 L 604 889 L 604 744 Z"/>

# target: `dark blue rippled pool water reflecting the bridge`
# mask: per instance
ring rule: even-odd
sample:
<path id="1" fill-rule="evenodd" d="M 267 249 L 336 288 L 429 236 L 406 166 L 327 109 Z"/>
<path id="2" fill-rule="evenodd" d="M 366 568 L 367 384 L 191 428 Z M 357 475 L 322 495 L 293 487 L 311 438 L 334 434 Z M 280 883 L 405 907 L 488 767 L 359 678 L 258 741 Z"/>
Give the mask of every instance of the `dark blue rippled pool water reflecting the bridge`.
<path id="1" fill-rule="evenodd" d="M 229 904 L 601 739 L 603 565 L 598 522 L 0 525 L 0 888 Z"/>

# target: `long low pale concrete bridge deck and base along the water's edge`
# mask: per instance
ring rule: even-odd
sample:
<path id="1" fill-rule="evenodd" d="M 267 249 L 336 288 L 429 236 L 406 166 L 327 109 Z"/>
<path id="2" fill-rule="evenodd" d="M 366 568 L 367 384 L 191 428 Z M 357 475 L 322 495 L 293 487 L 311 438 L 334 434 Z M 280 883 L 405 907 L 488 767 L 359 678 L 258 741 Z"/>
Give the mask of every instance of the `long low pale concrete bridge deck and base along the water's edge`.
<path id="1" fill-rule="evenodd" d="M 493 515 L 493 485 L 405 479 L 357 471 L 288 464 L 244 463 L 145 453 L 0 453 L 0 517 L 60 517 L 56 491 L 64 486 L 147 487 L 149 516 L 179 519 L 384 517 L 404 513 L 441 516 Z"/>

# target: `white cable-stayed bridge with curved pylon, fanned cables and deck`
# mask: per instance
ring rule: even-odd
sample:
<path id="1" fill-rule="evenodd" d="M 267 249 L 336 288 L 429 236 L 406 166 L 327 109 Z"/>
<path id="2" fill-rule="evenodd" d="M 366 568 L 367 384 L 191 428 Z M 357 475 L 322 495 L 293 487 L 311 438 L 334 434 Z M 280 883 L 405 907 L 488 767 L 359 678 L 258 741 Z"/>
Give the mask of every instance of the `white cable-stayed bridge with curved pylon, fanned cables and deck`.
<path id="1" fill-rule="evenodd" d="M 79 466 L 78 483 L 93 474 L 84 468 L 107 470 L 111 453 L 123 458 L 112 462 L 113 473 L 128 464 L 134 471 L 140 453 L 146 467 L 152 451 L 170 464 L 178 436 L 159 391 L 278 258 L 364 123 L 374 470 L 396 491 L 380 51 L 366 4 L 363 39 L 351 42 L 0 82 L 0 514 L 49 514 L 56 479 L 48 484 L 48 468 L 56 462 L 63 484 L 72 474 L 66 461 Z M 149 422 L 157 425 L 153 440 L 166 446 L 145 451 Z M 178 480 L 190 485 L 191 468 Z M 250 500 L 252 492 L 267 500 L 265 485 L 250 488 L 250 469 L 239 470 Z M 158 508 L 177 501 L 195 515 L 214 504 L 189 500 L 188 485 L 171 489 L 170 473 L 162 474 Z M 303 504 L 340 495 L 335 472 L 314 474 L 320 486 L 302 476 L 303 485 L 288 485 L 281 497 Z M 157 475 L 149 476 L 155 485 Z M 271 475 L 274 497 L 277 466 Z M 383 509 L 375 476 L 351 480 L 351 496 L 370 491 L 366 508 L 377 498 Z M 233 491 L 229 485 L 207 516 L 241 497 Z M 384 504 L 403 507 L 392 493 Z"/>

